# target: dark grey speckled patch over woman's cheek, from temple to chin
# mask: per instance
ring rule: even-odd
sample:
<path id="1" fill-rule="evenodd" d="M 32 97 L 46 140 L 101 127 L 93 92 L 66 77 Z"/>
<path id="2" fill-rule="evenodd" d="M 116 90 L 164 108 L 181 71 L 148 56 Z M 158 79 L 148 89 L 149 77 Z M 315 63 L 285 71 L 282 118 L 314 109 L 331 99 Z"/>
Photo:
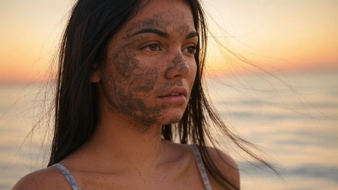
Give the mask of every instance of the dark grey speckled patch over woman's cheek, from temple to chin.
<path id="1" fill-rule="evenodd" d="M 103 75 L 104 93 L 111 105 L 119 108 L 123 113 L 155 123 L 158 122 L 160 111 L 166 106 L 149 107 L 141 98 L 137 98 L 135 93 L 148 93 L 153 90 L 158 78 L 158 71 L 156 68 L 146 67 L 136 59 L 136 55 L 130 52 L 130 45 L 133 42 L 126 43 L 119 49 L 114 49 L 115 53 L 112 59 L 109 60 L 109 63 L 106 63 Z M 116 72 L 110 72 L 111 68 L 115 68 Z M 117 78 L 120 78 L 120 80 L 116 81 L 114 75 L 119 75 Z M 121 85 L 125 86 L 122 87 Z M 138 130 L 140 133 L 147 131 L 146 129 Z"/>

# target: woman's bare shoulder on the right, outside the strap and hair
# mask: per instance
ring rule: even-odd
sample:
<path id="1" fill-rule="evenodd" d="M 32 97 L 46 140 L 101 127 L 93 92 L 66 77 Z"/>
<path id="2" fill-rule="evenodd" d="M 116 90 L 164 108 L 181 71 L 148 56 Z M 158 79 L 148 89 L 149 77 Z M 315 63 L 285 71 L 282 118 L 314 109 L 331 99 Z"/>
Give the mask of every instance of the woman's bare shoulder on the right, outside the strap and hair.
<path id="1" fill-rule="evenodd" d="M 240 177 L 239 177 L 239 169 L 238 165 L 234 161 L 234 159 L 224 151 L 221 151 L 216 148 L 208 147 L 208 152 L 213 159 L 214 163 L 218 167 L 218 169 L 222 172 L 227 180 L 229 180 L 232 185 L 236 188 L 240 188 Z M 221 186 L 217 183 L 213 183 L 214 190 L 223 190 Z"/>

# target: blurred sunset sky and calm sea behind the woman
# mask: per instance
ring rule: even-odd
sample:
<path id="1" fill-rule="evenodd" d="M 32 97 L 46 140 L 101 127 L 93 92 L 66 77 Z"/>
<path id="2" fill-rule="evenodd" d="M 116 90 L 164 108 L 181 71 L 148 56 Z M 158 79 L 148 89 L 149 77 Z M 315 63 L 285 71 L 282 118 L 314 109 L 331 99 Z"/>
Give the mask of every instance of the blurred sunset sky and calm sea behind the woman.
<path id="1" fill-rule="evenodd" d="M 0 190 L 44 166 L 44 131 L 23 141 L 73 3 L 0 0 Z M 234 154 L 243 190 L 337 190 L 338 1 L 203 3 L 210 98 L 283 177 Z"/>

